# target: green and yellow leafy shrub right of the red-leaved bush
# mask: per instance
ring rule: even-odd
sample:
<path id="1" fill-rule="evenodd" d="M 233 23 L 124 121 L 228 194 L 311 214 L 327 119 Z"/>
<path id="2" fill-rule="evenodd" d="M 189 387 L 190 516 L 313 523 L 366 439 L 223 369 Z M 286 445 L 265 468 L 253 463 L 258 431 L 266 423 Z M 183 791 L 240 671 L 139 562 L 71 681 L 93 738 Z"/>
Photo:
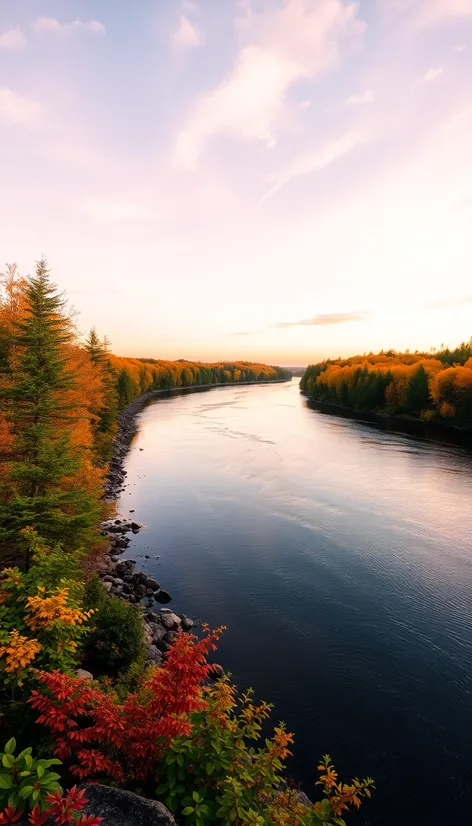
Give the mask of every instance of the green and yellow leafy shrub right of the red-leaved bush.
<path id="1" fill-rule="evenodd" d="M 270 706 L 255 705 L 250 692 L 238 700 L 227 680 L 205 700 L 191 715 L 189 735 L 174 738 L 158 768 L 157 796 L 188 826 L 343 826 L 343 812 L 370 797 L 369 778 L 340 783 L 325 756 L 318 766 L 323 797 L 306 805 L 284 782 L 292 735 L 280 725 L 260 743 Z"/>

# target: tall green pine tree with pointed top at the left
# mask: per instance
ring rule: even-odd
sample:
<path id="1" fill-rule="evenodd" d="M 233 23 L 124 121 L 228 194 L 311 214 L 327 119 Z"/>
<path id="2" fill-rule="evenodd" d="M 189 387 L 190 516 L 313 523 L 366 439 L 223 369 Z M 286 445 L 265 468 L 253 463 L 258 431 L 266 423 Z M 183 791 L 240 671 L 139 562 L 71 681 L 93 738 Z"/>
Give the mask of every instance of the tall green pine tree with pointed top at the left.
<path id="1" fill-rule="evenodd" d="M 63 297 L 39 261 L 25 289 L 24 318 L 15 324 L 15 357 L 2 402 L 13 433 L 13 463 L 0 506 L 0 540 L 19 542 L 34 527 L 47 540 L 77 546 L 98 519 L 98 502 L 69 486 L 80 464 L 71 446 L 74 405 L 67 347 L 72 323 Z"/>

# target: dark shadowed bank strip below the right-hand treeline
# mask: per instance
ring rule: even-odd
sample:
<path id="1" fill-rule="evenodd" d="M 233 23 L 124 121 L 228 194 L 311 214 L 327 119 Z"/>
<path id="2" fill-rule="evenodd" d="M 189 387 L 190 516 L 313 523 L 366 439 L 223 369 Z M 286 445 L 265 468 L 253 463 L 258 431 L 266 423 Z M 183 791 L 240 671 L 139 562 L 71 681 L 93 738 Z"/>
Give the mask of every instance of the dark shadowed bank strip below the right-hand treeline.
<path id="1" fill-rule="evenodd" d="M 302 396 L 305 396 L 308 406 L 312 410 L 318 410 L 320 413 L 374 424 L 382 430 L 414 436 L 417 439 L 426 439 L 430 442 L 442 442 L 444 444 L 472 449 L 472 432 L 469 430 L 442 424 L 441 422 L 424 422 L 412 416 L 390 416 L 388 413 L 382 412 L 353 410 L 341 404 L 317 401 L 316 399 L 312 399 L 303 390 L 300 392 Z"/>

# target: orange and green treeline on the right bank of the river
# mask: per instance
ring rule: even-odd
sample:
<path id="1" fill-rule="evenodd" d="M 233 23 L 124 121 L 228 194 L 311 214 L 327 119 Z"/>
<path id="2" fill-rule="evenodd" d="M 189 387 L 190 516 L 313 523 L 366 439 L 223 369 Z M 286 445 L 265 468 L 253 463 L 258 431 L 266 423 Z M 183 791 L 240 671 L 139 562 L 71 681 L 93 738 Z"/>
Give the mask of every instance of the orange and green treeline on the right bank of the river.
<path id="1" fill-rule="evenodd" d="M 472 430 L 472 339 L 455 350 L 327 359 L 307 367 L 300 388 L 318 402 Z"/>

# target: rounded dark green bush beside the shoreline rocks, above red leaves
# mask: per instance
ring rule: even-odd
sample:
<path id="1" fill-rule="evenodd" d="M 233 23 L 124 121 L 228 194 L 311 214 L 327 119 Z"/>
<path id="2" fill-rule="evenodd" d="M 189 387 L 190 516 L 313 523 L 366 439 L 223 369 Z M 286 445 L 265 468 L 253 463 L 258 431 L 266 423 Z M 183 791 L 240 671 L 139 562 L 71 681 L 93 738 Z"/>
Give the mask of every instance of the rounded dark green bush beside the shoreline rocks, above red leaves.
<path id="1" fill-rule="evenodd" d="M 133 663 L 144 665 L 144 620 L 141 611 L 110 596 L 97 576 L 85 588 L 85 605 L 94 611 L 84 647 L 84 665 L 94 676 L 116 677 Z"/>

